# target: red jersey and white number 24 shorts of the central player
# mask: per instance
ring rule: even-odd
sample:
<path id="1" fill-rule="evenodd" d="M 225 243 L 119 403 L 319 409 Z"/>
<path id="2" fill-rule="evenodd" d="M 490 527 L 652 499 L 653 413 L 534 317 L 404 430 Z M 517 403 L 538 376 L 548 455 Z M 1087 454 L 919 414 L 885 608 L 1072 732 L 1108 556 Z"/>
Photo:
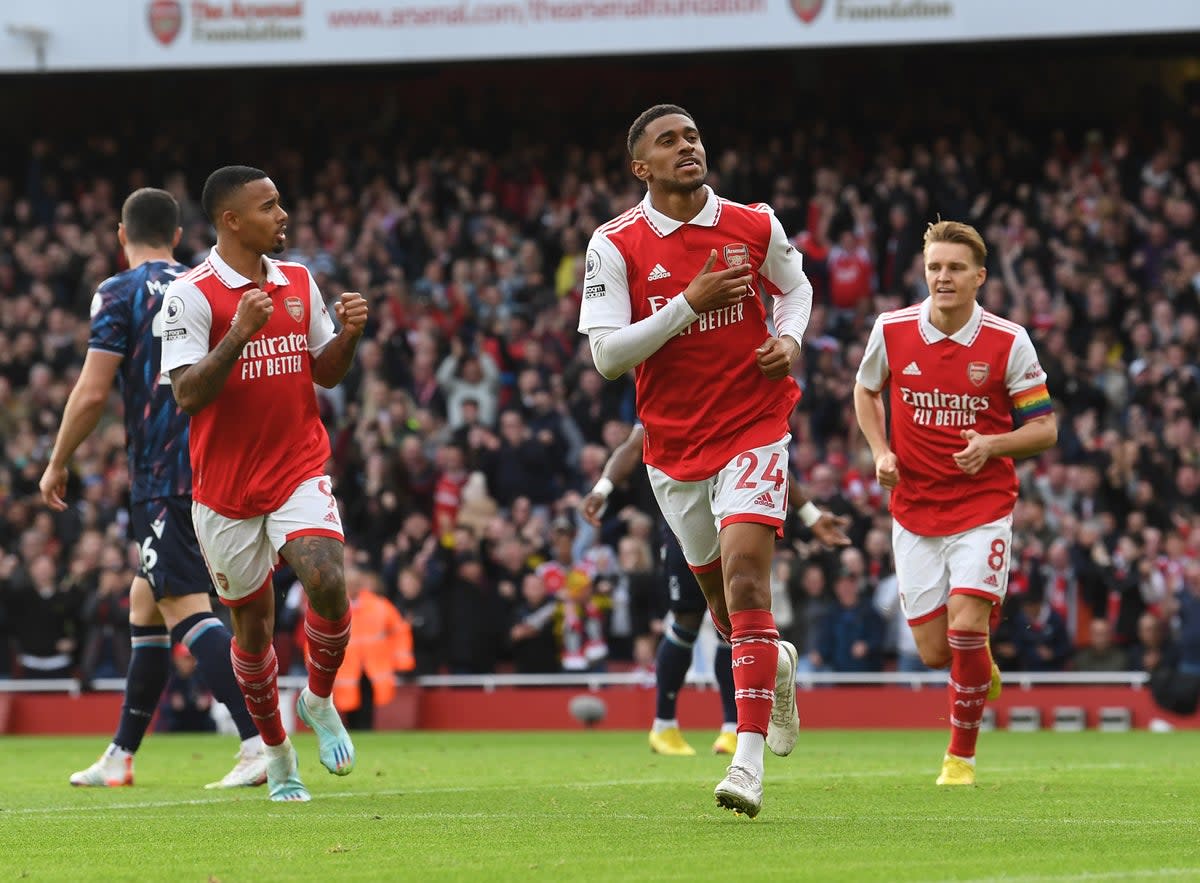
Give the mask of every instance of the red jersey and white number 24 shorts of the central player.
<path id="1" fill-rule="evenodd" d="M 678 334 L 636 366 L 635 379 L 643 459 L 662 515 L 698 570 L 720 566 L 724 525 L 782 524 L 787 419 L 800 394 L 791 377 L 768 380 L 756 365 L 755 349 L 770 336 L 757 292 L 803 301 L 803 322 L 787 330 L 797 343 L 811 306 L 803 258 L 770 208 L 704 190 L 704 208 L 686 223 L 655 210 L 647 194 L 598 228 L 580 314 L 580 331 L 590 334 L 682 311 Z M 682 293 L 714 250 L 713 271 L 748 264 L 752 290 L 697 316 Z"/>

